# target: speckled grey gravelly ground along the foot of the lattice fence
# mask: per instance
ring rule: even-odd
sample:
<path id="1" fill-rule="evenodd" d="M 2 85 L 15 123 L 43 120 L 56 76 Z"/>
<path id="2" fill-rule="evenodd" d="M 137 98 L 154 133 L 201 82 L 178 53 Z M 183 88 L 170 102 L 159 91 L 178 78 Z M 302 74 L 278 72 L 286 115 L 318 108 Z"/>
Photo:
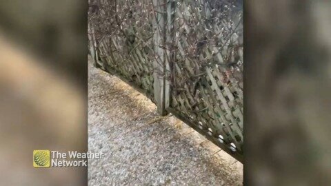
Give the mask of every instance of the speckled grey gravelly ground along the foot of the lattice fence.
<path id="1" fill-rule="evenodd" d="M 89 185 L 242 185 L 242 164 L 89 64 Z"/>

